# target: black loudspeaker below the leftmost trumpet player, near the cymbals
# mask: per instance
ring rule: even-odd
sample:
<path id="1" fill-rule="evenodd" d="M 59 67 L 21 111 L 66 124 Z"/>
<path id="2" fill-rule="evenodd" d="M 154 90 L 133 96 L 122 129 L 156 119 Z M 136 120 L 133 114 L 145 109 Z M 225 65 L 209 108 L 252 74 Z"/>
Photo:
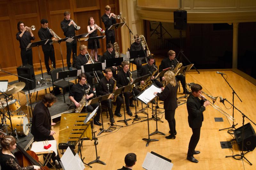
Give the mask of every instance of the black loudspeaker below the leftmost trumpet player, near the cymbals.
<path id="1" fill-rule="evenodd" d="M 33 80 L 33 81 L 29 81 L 27 83 L 26 79 L 18 77 L 19 82 L 22 81 L 22 82 L 26 83 L 26 85 L 23 89 L 28 90 L 28 88 L 30 88 L 29 90 L 33 90 L 36 88 L 36 76 L 34 73 L 34 67 L 32 65 L 26 64 L 26 65 L 21 65 L 21 66 L 17 67 L 17 74 L 20 77 L 24 77 L 24 78 Z"/>

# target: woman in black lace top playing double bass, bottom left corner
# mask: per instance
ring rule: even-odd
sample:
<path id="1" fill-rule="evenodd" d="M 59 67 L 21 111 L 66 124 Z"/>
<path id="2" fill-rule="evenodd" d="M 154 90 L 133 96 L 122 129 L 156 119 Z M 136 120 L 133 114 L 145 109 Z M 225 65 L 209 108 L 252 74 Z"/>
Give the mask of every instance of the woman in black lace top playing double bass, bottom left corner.
<path id="1" fill-rule="evenodd" d="M 13 150 L 16 149 L 16 140 L 12 136 L 1 136 L 1 146 L 0 150 L 0 165 L 1 169 L 8 170 L 39 170 L 40 166 L 30 165 L 26 167 L 20 167 L 19 161 L 12 153 Z"/>

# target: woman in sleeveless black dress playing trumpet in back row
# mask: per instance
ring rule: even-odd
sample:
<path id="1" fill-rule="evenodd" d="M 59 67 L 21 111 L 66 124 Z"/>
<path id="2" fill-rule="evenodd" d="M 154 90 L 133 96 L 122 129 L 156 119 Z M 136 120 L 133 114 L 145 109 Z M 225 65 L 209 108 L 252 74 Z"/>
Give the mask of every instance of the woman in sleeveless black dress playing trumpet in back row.
<path id="1" fill-rule="evenodd" d="M 87 26 L 89 38 L 98 36 L 97 28 L 98 28 L 98 26 L 94 25 L 94 19 L 92 17 L 90 17 L 88 20 L 88 26 Z M 96 47 L 96 45 L 97 45 L 97 47 Z M 99 39 L 88 40 L 88 48 L 91 49 L 91 56 L 92 56 L 92 54 L 94 54 L 94 61 L 98 62 L 98 49 L 97 48 L 100 48 Z"/>

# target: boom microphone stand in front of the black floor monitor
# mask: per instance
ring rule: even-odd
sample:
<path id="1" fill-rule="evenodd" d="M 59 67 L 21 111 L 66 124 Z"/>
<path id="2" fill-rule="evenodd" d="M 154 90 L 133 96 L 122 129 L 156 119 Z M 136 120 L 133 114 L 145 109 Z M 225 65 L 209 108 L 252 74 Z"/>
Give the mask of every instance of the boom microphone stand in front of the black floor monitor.
<path id="1" fill-rule="evenodd" d="M 241 152 L 241 154 L 236 154 L 236 155 L 232 155 L 232 156 L 226 156 L 225 158 L 228 158 L 228 157 L 236 157 L 236 156 L 240 156 L 241 158 L 240 159 L 237 159 L 237 160 L 243 160 L 243 158 L 245 159 L 245 160 L 247 160 L 248 162 L 249 162 L 249 164 L 250 165 L 252 165 L 252 163 L 248 160 L 248 159 L 246 159 L 245 157 L 244 157 L 244 155 L 246 154 L 246 153 L 248 153 L 248 152 L 250 152 L 250 151 L 247 151 L 247 152 L 244 152 L 244 117 L 246 117 L 249 121 L 251 121 L 252 122 L 252 120 L 251 119 L 249 119 L 246 115 L 244 115 L 244 113 L 242 113 L 238 108 L 236 108 L 232 103 L 230 103 L 227 99 L 224 99 L 224 100 L 226 100 L 230 105 L 232 105 L 233 106 L 233 108 L 235 108 L 236 110 L 238 110 L 241 114 L 242 114 L 242 117 L 243 117 L 243 126 L 242 126 L 242 152 Z M 224 100 L 223 100 L 223 104 L 224 104 Z M 252 122 L 255 126 L 256 126 L 256 124 L 254 123 L 254 122 Z M 234 123 L 233 123 L 234 124 Z M 234 158 L 234 159 L 236 159 L 236 158 Z"/>

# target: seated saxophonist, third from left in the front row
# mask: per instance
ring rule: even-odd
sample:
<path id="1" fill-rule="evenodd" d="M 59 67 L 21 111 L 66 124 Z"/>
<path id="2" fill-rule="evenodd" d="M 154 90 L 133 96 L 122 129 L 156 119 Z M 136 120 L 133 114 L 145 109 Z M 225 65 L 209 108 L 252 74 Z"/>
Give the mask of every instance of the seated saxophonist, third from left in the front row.
<path id="1" fill-rule="evenodd" d="M 129 63 L 127 61 L 123 61 L 121 63 L 122 66 L 122 70 L 120 70 L 117 73 L 117 77 L 116 77 L 116 85 L 117 87 L 123 87 L 128 85 L 130 82 L 133 82 L 133 79 L 130 78 L 131 76 L 131 72 L 128 71 L 129 70 Z M 126 111 L 128 115 L 132 115 L 132 112 L 130 110 L 130 106 L 134 107 L 134 105 L 132 104 L 132 100 L 133 98 L 130 99 L 130 96 L 133 95 L 133 93 L 135 94 L 135 96 L 137 96 L 138 94 L 140 94 L 140 91 L 138 89 L 136 89 L 135 87 L 133 87 L 132 92 L 125 92 L 124 93 L 124 101 L 125 101 L 125 106 L 126 106 Z"/>

